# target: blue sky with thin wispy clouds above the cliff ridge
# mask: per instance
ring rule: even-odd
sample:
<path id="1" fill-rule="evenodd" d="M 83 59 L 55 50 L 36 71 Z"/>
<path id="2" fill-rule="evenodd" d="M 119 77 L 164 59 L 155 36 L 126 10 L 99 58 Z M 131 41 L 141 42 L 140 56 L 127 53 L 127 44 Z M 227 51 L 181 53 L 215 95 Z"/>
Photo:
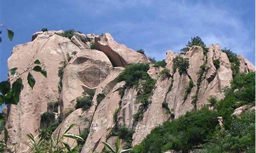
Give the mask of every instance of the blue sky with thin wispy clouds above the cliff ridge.
<path id="1" fill-rule="evenodd" d="M 162 60 L 168 49 L 179 52 L 191 37 L 220 43 L 255 65 L 255 1 L 0 1 L 0 22 L 15 32 L 2 33 L 0 81 L 7 78 L 12 47 L 31 40 L 41 28 L 109 32 L 119 43 L 145 50 Z"/>

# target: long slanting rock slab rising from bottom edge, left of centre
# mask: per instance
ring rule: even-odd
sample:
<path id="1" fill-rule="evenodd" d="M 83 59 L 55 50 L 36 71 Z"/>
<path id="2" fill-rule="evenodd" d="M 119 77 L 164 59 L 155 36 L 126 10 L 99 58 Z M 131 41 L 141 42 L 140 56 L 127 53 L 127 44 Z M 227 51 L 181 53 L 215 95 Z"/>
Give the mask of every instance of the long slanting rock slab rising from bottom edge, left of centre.
<path id="1" fill-rule="evenodd" d="M 81 152 L 101 151 L 103 149 L 101 142 L 106 140 L 106 134 L 114 126 L 113 114 L 119 107 L 118 103 L 121 99 L 117 89 L 122 87 L 123 84 L 123 82 L 117 83 L 98 105 L 93 116 L 90 134 Z"/>

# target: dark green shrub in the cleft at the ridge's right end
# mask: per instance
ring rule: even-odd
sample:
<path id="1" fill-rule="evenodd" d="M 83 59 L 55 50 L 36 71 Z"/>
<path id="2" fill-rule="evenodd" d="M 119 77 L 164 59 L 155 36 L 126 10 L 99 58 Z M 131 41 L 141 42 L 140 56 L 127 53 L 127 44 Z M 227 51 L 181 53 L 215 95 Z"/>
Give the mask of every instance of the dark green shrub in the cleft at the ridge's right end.
<path id="1" fill-rule="evenodd" d="M 239 73 L 240 60 L 237 54 L 233 53 L 230 49 L 221 49 L 222 52 L 227 54 L 228 60 L 231 63 L 231 70 L 233 78 Z"/>

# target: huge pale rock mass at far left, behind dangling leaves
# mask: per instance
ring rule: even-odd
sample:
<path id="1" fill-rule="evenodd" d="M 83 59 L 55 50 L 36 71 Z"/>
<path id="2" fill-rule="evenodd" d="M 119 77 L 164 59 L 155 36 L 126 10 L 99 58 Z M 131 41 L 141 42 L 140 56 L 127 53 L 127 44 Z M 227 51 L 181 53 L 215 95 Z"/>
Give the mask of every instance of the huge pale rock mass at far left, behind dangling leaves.
<path id="1" fill-rule="evenodd" d="M 59 44 L 67 41 L 70 40 L 56 34 L 39 34 L 32 42 L 16 45 L 8 59 L 9 69 L 18 67 L 19 73 L 30 67 L 36 59 L 47 70 L 47 78 L 38 72 L 31 71 L 36 80 L 33 90 L 27 82 L 28 72 L 23 73 L 21 78 L 24 89 L 20 94 L 19 103 L 8 106 L 10 111 L 6 127 L 10 138 L 9 143 L 20 144 L 18 152 L 26 152 L 27 147 L 23 143 L 28 140 L 26 135 L 38 134 L 40 115 L 47 111 L 48 103 L 59 98 L 58 67 L 61 61 L 66 60 L 66 53 L 72 52 L 69 48 L 61 48 Z"/>

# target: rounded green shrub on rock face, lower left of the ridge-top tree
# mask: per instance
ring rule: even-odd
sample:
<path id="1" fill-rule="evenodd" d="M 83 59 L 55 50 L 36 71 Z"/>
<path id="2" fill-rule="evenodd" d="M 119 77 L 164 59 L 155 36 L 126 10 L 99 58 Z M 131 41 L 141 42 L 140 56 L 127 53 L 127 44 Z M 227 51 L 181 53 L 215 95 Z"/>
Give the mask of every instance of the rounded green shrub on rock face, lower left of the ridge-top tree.
<path id="1" fill-rule="evenodd" d="M 173 71 L 176 72 L 176 70 L 178 69 L 179 74 L 186 74 L 187 73 L 187 69 L 189 67 L 189 62 L 187 58 L 183 58 L 181 56 L 176 56 L 173 59 L 174 62 L 174 66 L 173 66 Z"/>

